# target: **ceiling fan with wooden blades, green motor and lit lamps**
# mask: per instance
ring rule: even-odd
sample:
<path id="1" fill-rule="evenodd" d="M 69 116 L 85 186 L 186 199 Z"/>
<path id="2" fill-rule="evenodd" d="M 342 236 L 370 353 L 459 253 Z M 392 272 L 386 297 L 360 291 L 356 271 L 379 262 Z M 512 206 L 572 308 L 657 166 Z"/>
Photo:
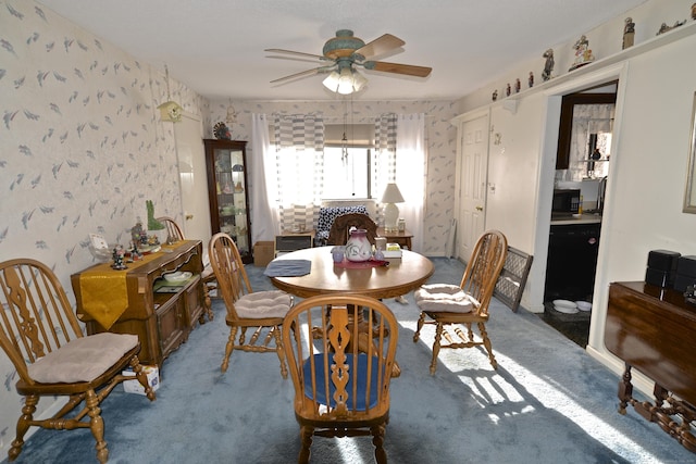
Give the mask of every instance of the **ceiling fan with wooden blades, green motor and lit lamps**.
<path id="1" fill-rule="evenodd" d="M 326 40 L 322 50 L 323 55 L 304 53 L 300 51 L 283 50 L 277 48 L 265 49 L 271 53 L 284 53 L 296 57 L 304 57 L 325 62 L 325 65 L 300 73 L 290 74 L 271 80 L 271 84 L 315 74 L 331 73 L 323 81 L 330 90 L 338 93 L 352 93 L 359 91 L 368 79 L 356 71 L 356 66 L 365 70 L 373 70 L 383 73 L 402 74 L 407 76 L 427 77 L 433 71 L 432 67 L 415 66 L 412 64 L 388 63 L 386 61 L 371 61 L 370 58 L 390 52 L 402 47 L 406 42 L 391 34 L 385 34 L 373 41 L 365 43 L 362 39 L 353 36 L 352 30 L 340 29 L 336 32 L 336 37 Z"/>

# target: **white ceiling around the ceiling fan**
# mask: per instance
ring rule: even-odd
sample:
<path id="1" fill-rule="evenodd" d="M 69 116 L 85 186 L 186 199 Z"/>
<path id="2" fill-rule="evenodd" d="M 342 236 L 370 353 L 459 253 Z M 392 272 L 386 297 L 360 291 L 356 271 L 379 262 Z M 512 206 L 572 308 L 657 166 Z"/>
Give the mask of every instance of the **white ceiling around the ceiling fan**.
<path id="1" fill-rule="evenodd" d="M 322 54 L 337 29 L 369 42 L 406 41 L 378 57 L 433 67 L 413 78 L 365 71 L 362 100 L 455 100 L 505 70 L 538 59 L 646 0 L 39 0 L 209 98 L 331 100 L 323 75 L 272 85 L 318 62 L 269 58 L 266 48 Z"/>

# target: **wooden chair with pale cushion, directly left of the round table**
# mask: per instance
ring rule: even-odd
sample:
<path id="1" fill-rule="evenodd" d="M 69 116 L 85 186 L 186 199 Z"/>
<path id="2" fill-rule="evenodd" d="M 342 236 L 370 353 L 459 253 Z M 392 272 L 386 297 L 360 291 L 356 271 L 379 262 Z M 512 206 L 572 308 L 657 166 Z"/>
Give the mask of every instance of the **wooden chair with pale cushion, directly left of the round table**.
<path id="1" fill-rule="evenodd" d="M 287 378 L 285 354 L 281 341 L 281 325 L 283 318 L 293 306 L 293 297 L 282 290 L 253 291 L 247 271 L 241 262 L 241 255 L 232 237 L 227 234 L 215 234 L 210 240 L 210 264 L 217 279 L 217 290 L 222 293 L 227 309 L 225 318 L 229 326 L 229 338 L 225 346 L 225 355 L 222 361 L 222 372 L 229 366 L 229 356 L 233 350 L 243 350 L 257 353 L 275 352 L 281 361 L 281 374 Z M 246 333 L 249 327 L 254 333 L 246 341 Z M 241 329 L 239 341 L 235 344 L 237 329 Z M 257 344 L 261 333 L 266 329 L 262 344 Z M 275 340 L 275 347 L 271 347 L 271 340 Z"/>

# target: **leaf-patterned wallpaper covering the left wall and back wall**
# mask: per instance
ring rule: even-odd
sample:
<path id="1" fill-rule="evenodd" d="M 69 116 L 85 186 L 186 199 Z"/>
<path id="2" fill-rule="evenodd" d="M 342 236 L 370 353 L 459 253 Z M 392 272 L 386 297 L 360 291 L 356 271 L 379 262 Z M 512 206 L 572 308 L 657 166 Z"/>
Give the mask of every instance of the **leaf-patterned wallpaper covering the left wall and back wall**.
<path id="1" fill-rule="evenodd" d="M 174 78 L 170 89 L 211 138 L 231 102 L 209 102 Z M 165 100 L 163 62 L 140 62 L 33 0 L 0 0 L 0 261 L 46 263 L 74 303 L 70 276 L 95 263 L 90 233 L 126 243 L 137 217 L 147 218 L 146 200 L 153 201 L 157 215 L 181 221 L 175 128 L 157 110 Z M 248 141 L 252 113 L 322 111 L 326 122 L 340 123 L 345 111 L 340 101 L 232 103 L 238 112 L 232 136 Z M 356 124 L 386 112 L 426 114 L 423 246 L 426 254 L 442 255 L 453 214 L 456 103 L 351 105 Z M 3 455 L 22 401 L 3 354 L 0 378 Z M 37 415 L 54 406 L 44 400 Z"/>

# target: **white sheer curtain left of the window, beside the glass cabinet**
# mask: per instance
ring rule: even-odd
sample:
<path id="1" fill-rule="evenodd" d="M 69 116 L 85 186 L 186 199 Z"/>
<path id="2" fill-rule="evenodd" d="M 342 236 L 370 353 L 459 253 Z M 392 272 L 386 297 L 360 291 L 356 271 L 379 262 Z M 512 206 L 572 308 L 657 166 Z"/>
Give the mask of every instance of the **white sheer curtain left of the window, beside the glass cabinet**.
<path id="1" fill-rule="evenodd" d="M 275 183 L 275 152 L 271 148 L 269 121 L 265 114 L 251 116 L 251 241 L 273 240 L 281 233 L 278 214 L 275 209 L 277 198 Z"/>

